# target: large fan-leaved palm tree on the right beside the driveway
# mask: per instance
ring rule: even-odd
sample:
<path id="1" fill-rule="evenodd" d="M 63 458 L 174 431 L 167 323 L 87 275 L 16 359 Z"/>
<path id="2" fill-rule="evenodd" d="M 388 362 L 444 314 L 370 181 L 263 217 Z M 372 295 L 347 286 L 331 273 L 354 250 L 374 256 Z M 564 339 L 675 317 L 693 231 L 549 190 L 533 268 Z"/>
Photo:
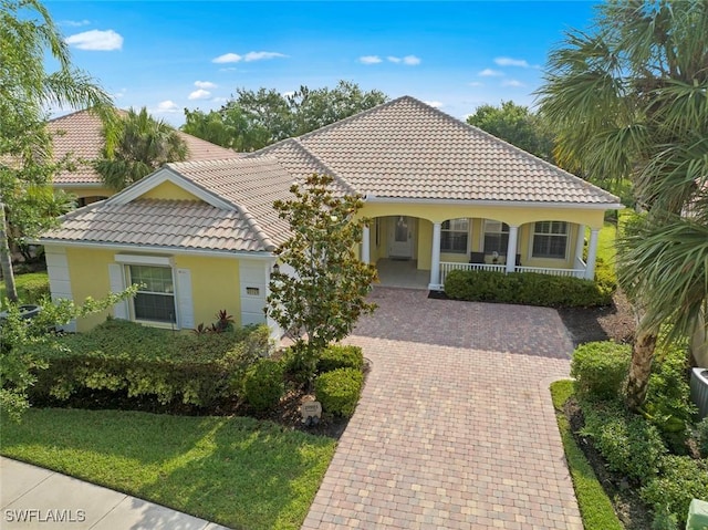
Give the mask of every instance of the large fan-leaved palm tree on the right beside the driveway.
<path id="1" fill-rule="evenodd" d="M 597 9 L 592 32 L 573 30 L 552 52 L 538 95 L 558 126 L 559 163 L 593 180 L 629 178 L 638 204 L 652 211 L 618 260 L 638 314 L 627 378 L 627 404 L 637 409 L 659 328 L 684 330 L 684 316 L 667 308 L 693 313 L 700 285 L 671 278 L 683 269 L 668 263 L 694 272 L 706 267 L 694 260 L 699 238 L 679 245 L 678 227 L 698 230 L 699 221 L 679 215 L 697 204 L 708 179 L 708 2 L 624 0 Z"/>

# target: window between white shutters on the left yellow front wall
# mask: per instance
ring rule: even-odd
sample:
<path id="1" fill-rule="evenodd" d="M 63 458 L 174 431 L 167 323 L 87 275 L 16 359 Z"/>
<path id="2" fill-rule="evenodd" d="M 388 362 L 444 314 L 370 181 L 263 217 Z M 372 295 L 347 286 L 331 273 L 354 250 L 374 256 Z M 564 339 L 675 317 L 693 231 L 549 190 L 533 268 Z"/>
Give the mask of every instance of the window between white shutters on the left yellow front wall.
<path id="1" fill-rule="evenodd" d="M 129 283 L 142 283 L 133 299 L 135 320 L 177 322 L 171 268 L 128 266 L 128 272 Z"/>

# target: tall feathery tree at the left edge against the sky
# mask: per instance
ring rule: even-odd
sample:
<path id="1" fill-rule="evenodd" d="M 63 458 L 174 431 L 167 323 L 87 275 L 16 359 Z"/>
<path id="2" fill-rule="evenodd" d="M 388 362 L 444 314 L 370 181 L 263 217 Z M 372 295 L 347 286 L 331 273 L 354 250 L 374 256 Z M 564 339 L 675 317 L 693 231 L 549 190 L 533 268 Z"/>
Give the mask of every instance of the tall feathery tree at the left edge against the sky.
<path id="1" fill-rule="evenodd" d="M 45 69 L 46 55 L 56 63 L 53 72 Z M 51 162 L 48 105 L 101 112 L 110 102 L 91 76 L 72 66 L 63 37 L 39 1 L 0 0 L 0 267 L 10 300 L 17 300 L 17 289 L 8 238 L 10 222 L 20 219 L 13 212 L 35 229 L 50 226 L 53 219 L 28 200 L 28 193 L 43 195 L 38 190 L 66 164 Z"/>

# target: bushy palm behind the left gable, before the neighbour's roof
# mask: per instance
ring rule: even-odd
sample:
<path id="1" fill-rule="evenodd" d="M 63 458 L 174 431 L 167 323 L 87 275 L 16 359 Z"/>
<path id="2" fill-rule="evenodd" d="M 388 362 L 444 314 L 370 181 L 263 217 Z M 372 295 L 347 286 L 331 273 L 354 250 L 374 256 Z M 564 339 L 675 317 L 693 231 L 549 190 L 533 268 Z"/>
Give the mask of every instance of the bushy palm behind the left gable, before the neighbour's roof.
<path id="1" fill-rule="evenodd" d="M 153 118 L 147 108 L 131 108 L 117 124 L 104 127 L 106 139 L 96 170 L 104 184 L 121 190 L 168 162 L 187 158 L 187 144 L 177 129 Z"/>

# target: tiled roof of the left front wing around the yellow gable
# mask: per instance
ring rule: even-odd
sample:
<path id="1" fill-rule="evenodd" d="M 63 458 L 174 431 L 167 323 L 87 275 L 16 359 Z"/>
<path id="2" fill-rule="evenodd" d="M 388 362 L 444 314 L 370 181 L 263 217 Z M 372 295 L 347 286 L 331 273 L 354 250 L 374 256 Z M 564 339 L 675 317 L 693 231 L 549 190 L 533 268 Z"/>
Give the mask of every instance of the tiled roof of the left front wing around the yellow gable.
<path id="1" fill-rule="evenodd" d="M 200 200 L 140 198 L 164 181 Z M 271 251 L 289 230 L 272 204 L 289 197 L 292 183 L 292 175 L 270 157 L 167 164 L 108 200 L 62 216 L 61 226 L 41 240 L 143 250 Z"/>

